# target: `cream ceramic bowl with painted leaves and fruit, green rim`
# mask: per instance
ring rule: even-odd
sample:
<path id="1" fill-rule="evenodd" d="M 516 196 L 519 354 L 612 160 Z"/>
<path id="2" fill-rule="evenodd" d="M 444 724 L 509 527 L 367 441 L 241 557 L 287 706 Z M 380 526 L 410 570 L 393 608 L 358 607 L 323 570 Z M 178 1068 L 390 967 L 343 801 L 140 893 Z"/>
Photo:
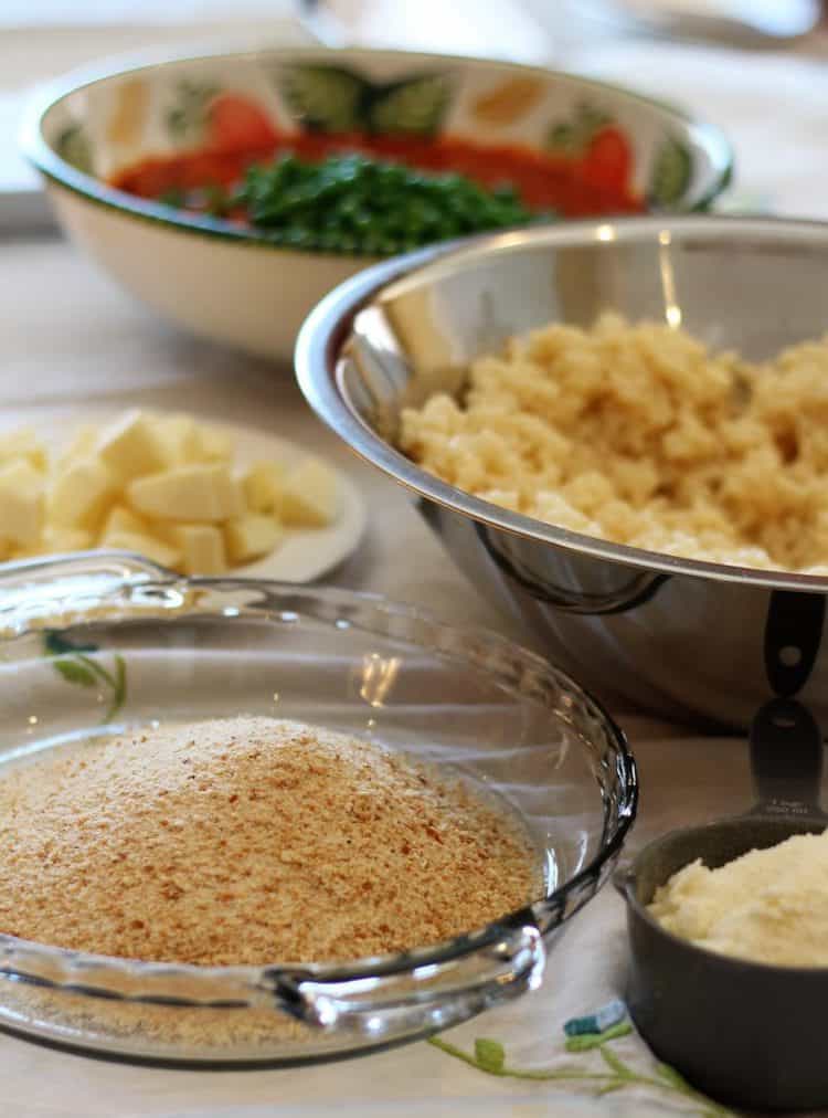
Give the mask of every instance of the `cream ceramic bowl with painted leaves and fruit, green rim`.
<path id="1" fill-rule="evenodd" d="M 256 146 L 274 132 L 306 130 L 527 145 L 586 181 L 621 174 L 646 210 L 703 208 L 732 169 L 716 129 L 635 93 L 505 63 L 367 49 L 76 73 L 32 106 L 23 148 L 60 222 L 126 288 L 204 338 L 287 359 L 305 314 L 369 258 L 286 248 L 111 182 L 151 157 Z"/>

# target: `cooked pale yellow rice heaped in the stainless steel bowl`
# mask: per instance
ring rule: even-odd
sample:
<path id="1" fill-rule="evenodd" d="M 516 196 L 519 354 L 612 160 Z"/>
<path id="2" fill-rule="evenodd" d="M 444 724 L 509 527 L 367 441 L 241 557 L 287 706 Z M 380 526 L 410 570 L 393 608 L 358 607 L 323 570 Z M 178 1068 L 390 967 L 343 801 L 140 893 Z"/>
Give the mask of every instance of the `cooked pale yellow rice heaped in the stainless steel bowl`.
<path id="1" fill-rule="evenodd" d="M 828 335 L 751 364 L 602 315 L 512 339 L 401 416 L 400 447 L 476 496 L 691 559 L 828 574 Z"/>

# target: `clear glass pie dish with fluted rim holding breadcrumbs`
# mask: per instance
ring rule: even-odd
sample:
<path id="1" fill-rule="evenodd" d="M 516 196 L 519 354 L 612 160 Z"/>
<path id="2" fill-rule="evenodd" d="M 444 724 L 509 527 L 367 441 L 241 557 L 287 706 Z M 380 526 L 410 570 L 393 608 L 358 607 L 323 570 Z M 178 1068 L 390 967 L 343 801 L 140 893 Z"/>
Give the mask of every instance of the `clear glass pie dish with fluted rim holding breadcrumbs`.
<path id="1" fill-rule="evenodd" d="M 221 1065 L 427 1035 L 541 982 L 554 934 L 607 880 L 635 817 L 624 735 L 568 676 L 375 596 L 188 580 L 94 552 L 7 565 L 0 626 L 0 778 L 159 720 L 293 718 L 483 786 L 522 817 L 543 879 L 487 927 L 349 964 L 200 967 L 0 935 L 0 1027 L 32 1039 Z"/>

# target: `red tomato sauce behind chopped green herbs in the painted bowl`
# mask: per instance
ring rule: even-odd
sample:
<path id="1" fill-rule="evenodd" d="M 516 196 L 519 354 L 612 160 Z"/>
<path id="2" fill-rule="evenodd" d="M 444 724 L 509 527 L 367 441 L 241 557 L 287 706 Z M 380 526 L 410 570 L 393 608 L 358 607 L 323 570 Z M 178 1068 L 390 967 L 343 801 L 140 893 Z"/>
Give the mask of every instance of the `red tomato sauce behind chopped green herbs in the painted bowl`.
<path id="1" fill-rule="evenodd" d="M 149 199 L 173 190 L 232 187 L 241 180 L 247 167 L 272 162 L 287 152 L 310 162 L 321 161 L 330 154 L 360 152 L 421 171 L 455 172 L 488 188 L 510 183 L 529 209 L 551 209 L 563 217 L 637 214 L 645 208 L 629 187 L 629 146 L 624 135 L 613 129 L 605 129 L 583 153 L 572 157 L 522 144 L 484 145 L 453 136 L 430 140 L 312 132 L 286 134 L 257 145 L 210 146 L 180 155 L 145 159 L 121 171 L 112 184 Z"/>

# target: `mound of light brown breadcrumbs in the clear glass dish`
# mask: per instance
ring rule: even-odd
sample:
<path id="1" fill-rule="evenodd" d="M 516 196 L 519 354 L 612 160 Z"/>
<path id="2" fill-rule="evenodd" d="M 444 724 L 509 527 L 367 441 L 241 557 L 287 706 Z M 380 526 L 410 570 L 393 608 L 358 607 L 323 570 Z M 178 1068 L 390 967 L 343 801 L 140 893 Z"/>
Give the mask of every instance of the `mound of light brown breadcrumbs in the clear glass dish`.
<path id="1" fill-rule="evenodd" d="M 399 951 L 537 885 L 527 834 L 461 780 L 269 718 L 162 726 L 0 780 L 0 931 L 171 963 Z"/>

